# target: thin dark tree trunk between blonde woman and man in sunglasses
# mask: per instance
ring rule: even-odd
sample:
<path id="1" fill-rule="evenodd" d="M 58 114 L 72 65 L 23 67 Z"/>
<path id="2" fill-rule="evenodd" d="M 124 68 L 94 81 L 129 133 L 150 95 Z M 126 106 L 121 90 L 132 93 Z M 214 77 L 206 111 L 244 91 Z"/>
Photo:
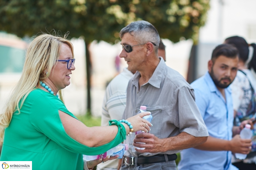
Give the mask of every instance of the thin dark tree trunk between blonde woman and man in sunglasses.
<path id="1" fill-rule="evenodd" d="M 91 70 L 89 42 L 85 42 L 85 60 L 86 60 L 86 77 L 87 77 L 87 111 L 86 114 L 91 116 Z"/>

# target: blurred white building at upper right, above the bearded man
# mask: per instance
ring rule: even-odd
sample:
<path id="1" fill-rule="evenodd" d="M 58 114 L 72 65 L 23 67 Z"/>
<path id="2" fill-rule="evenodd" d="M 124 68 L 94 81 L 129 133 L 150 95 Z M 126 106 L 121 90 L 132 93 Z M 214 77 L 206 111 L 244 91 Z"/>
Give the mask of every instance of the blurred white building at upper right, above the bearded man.
<path id="1" fill-rule="evenodd" d="M 200 28 L 196 58 L 196 78 L 208 70 L 212 50 L 230 36 L 242 36 L 256 42 L 255 0 L 211 0 L 204 27 Z"/>

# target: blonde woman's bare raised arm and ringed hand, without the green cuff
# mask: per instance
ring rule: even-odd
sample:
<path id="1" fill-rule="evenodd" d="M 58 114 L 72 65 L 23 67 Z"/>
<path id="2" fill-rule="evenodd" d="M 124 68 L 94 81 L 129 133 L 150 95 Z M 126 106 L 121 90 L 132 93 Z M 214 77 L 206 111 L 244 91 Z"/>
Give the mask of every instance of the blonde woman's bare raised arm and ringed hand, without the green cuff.
<path id="1" fill-rule="evenodd" d="M 81 121 L 73 118 L 69 114 L 62 112 L 59 110 L 60 120 L 65 129 L 65 132 L 77 142 L 84 144 L 88 147 L 97 147 L 102 146 L 106 143 L 111 142 L 115 139 L 118 128 L 117 126 L 105 126 L 105 127 L 87 127 Z M 141 113 L 141 115 L 133 116 L 132 118 L 128 118 L 127 120 L 131 122 L 134 131 L 150 130 L 149 126 L 143 127 L 145 124 L 142 123 L 142 117 L 145 115 L 149 115 L 148 112 Z M 139 119 L 139 117 L 141 119 Z M 143 119 L 144 122 L 151 124 Z M 126 129 L 126 134 L 129 133 L 130 128 L 127 124 L 122 123 Z"/>

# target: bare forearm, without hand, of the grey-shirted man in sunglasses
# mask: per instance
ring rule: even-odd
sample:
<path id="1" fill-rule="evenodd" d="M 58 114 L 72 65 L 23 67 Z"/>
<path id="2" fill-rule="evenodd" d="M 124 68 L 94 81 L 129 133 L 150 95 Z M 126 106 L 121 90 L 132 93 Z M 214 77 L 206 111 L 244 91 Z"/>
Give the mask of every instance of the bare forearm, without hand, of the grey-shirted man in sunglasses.
<path id="1" fill-rule="evenodd" d="M 181 132 L 177 136 L 164 138 L 163 140 L 163 150 L 173 151 L 173 150 L 183 150 L 191 147 L 195 147 L 199 144 L 206 142 L 207 136 L 205 137 L 195 137 L 186 132 Z"/>

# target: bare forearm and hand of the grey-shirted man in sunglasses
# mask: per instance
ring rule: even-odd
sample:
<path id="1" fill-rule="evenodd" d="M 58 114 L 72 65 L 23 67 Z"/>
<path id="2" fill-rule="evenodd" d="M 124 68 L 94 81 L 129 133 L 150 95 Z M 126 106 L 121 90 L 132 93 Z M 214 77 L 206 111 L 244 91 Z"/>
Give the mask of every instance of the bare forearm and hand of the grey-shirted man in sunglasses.
<path id="1" fill-rule="evenodd" d="M 135 150 L 138 152 L 157 153 L 191 148 L 204 143 L 206 140 L 207 137 L 195 137 L 186 132 L 181 132 L 177 136 L 164 139 L 159 139 L 153 134 L 141 133 L 135 136 L 135 139 L 133 140 L 133 145 L 135 147 L 145 148 L 144 150 L 139 150 L 135 148 Z M 140 144 L 135 142 L 143 142 L 146 144 Z"/>

